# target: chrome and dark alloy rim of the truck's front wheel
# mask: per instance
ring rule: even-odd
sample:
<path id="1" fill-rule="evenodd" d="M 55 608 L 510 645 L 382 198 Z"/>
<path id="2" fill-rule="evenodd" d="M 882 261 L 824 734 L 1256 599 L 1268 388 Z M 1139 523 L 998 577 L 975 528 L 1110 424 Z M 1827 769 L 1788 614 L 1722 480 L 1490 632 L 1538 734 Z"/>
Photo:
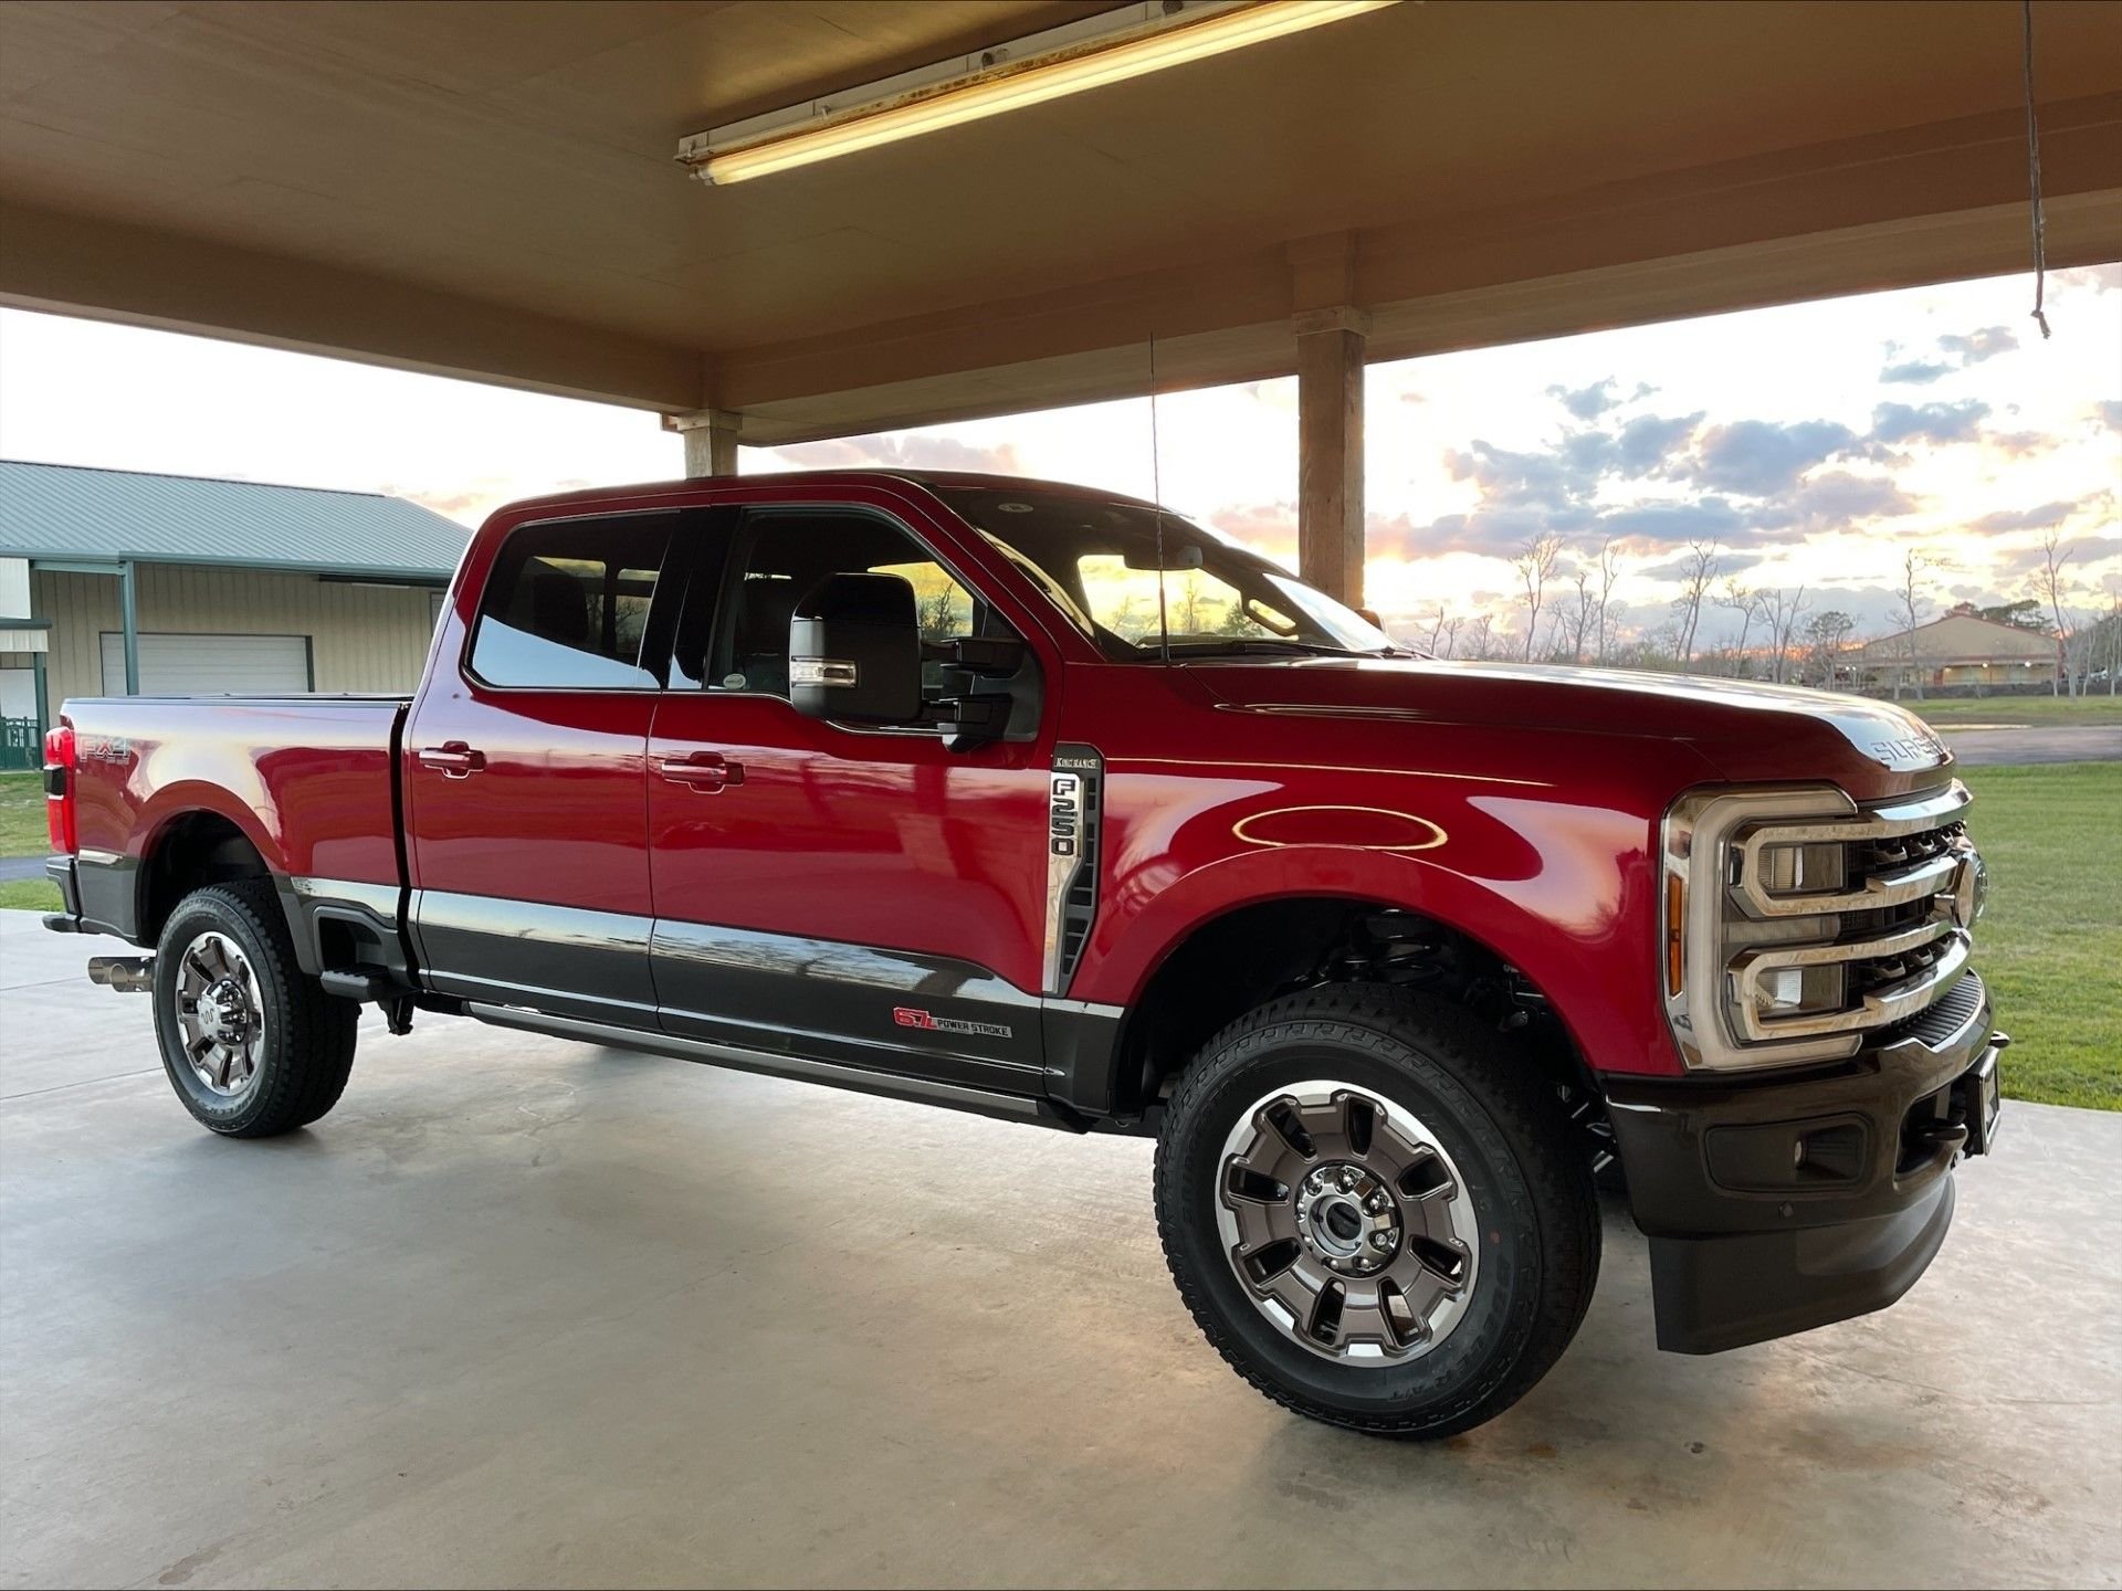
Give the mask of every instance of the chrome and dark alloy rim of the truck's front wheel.
<path id="1" fill-rule="evenodd" d="M 1299 1082 L 1222 1141 L 1216 1228 L 1254 1307 L 1328 1360 L 1403 1362 L 1473 1298 L 1473 1196 L 1437 1137 L 1390 1099 Z"/>

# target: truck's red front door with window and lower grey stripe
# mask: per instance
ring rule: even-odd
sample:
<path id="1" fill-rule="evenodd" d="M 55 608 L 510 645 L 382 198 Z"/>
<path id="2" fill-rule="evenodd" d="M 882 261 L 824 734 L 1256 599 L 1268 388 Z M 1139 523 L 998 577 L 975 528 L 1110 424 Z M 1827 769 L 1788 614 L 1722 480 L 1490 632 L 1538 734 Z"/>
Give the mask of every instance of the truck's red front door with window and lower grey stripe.
<path id="1" fill-rule="evenodd" d="M 1036 1095 L 1048 736 L 953 753 L 796 713 L 789 613 L 853 571 L 910 579 L 929 643 L 1014 634 L 879 509 L 743 511 L 649 734 L 664 1027 Z"/>

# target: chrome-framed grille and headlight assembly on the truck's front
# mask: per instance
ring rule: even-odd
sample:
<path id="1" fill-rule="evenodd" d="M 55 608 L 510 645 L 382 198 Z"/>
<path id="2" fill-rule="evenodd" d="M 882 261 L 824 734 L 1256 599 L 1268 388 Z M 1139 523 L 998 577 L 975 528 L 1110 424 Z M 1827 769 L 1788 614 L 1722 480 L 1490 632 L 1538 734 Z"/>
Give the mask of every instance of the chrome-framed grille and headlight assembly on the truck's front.
<path id="1" fill-rule="evenodd" d="M 1984 891 L 1967 802 L 1959 781 L 1863 808 L 1831 785 L 1674 802 L 1659 933 L 1687 1065 L 1836 1061 L 1937 1001 Z"/>

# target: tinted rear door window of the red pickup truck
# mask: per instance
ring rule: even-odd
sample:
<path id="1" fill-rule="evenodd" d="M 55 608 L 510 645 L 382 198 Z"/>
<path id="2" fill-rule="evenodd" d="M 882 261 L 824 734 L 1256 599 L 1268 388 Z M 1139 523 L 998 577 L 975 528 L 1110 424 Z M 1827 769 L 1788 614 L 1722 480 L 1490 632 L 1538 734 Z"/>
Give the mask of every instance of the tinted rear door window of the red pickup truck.
<path id="1" fill-rule="evenodd" d="M 649 617 L 673 524 L 658 513 L 514 530 L 480 598 L 471 672 L 518 689 L 654 689 Z"/>

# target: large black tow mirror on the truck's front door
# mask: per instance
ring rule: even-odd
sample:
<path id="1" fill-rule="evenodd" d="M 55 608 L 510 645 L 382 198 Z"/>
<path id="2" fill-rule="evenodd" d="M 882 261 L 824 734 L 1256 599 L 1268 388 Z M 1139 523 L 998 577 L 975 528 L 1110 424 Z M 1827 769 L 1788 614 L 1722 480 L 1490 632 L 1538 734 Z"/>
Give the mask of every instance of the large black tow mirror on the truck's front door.
<path id="1" fill-rule="evenodd" d="M 789 617 L 789 706 L 811 719 L 921 717 L 921 622 L 902 575 L 825 575 Z"/>

